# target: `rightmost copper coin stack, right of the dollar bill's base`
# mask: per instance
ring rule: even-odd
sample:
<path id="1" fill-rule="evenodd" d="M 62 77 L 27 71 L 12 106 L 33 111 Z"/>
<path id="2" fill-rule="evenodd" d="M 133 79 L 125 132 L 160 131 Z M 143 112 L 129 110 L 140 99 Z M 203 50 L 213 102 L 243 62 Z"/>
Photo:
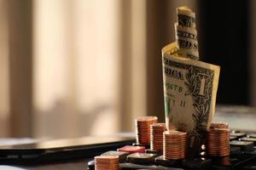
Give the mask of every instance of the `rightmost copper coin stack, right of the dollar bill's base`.
<path id="1" fill-rule="evenodd" d="M 228 123 L 212 123 L 207 132 L 207 155 L 230 156 L 230 129 Z"/>

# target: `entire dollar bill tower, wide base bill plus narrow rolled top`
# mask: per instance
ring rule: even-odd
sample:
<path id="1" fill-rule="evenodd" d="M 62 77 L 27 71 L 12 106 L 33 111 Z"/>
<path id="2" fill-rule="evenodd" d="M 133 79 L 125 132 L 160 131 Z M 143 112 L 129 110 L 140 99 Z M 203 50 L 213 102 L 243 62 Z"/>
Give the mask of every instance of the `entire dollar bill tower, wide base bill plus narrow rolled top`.
<path id="1" fill-rule="evenodd" d="M 199 61 L 195 13 L 177 8 L 176 42 L 162 48 L 166 127 L 188 133 L 197 156 L 215 112 L 220 68 Z"/>

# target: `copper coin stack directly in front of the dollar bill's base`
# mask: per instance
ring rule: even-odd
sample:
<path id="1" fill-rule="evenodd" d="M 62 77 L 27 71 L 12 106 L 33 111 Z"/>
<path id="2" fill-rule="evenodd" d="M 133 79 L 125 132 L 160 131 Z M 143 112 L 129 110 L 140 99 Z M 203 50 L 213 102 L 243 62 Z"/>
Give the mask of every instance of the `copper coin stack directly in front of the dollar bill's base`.
<path id="1" fill-rule="evenodd" d="M 186 155 L 187 133 L 170 130 L 164 132 L 164 158 L 183 159 Z"/>

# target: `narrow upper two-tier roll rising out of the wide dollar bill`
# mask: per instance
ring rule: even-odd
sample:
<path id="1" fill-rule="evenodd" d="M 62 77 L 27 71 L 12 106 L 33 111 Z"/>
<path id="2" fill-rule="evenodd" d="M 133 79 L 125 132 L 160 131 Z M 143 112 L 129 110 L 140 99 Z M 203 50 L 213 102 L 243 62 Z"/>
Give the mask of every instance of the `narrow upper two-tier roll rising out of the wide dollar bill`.
<path id="1" fill-rule="evenodd" d="M 177 23 L 174 26 L 177 54 L 189 59 L 199 59 L 195 13 L 188 7 L 177 8 Z"/>

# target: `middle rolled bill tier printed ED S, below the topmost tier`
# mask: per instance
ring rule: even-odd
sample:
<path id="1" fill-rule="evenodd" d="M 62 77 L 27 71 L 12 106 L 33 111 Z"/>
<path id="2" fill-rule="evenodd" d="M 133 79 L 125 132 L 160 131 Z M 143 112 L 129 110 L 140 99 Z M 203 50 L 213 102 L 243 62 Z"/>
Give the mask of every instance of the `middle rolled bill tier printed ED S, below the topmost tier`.
<path id="1" fill-rule="evenodd" d="M 197 31 L 174 24 L 178 53 L 189 59 L 199 59 Z"/>

